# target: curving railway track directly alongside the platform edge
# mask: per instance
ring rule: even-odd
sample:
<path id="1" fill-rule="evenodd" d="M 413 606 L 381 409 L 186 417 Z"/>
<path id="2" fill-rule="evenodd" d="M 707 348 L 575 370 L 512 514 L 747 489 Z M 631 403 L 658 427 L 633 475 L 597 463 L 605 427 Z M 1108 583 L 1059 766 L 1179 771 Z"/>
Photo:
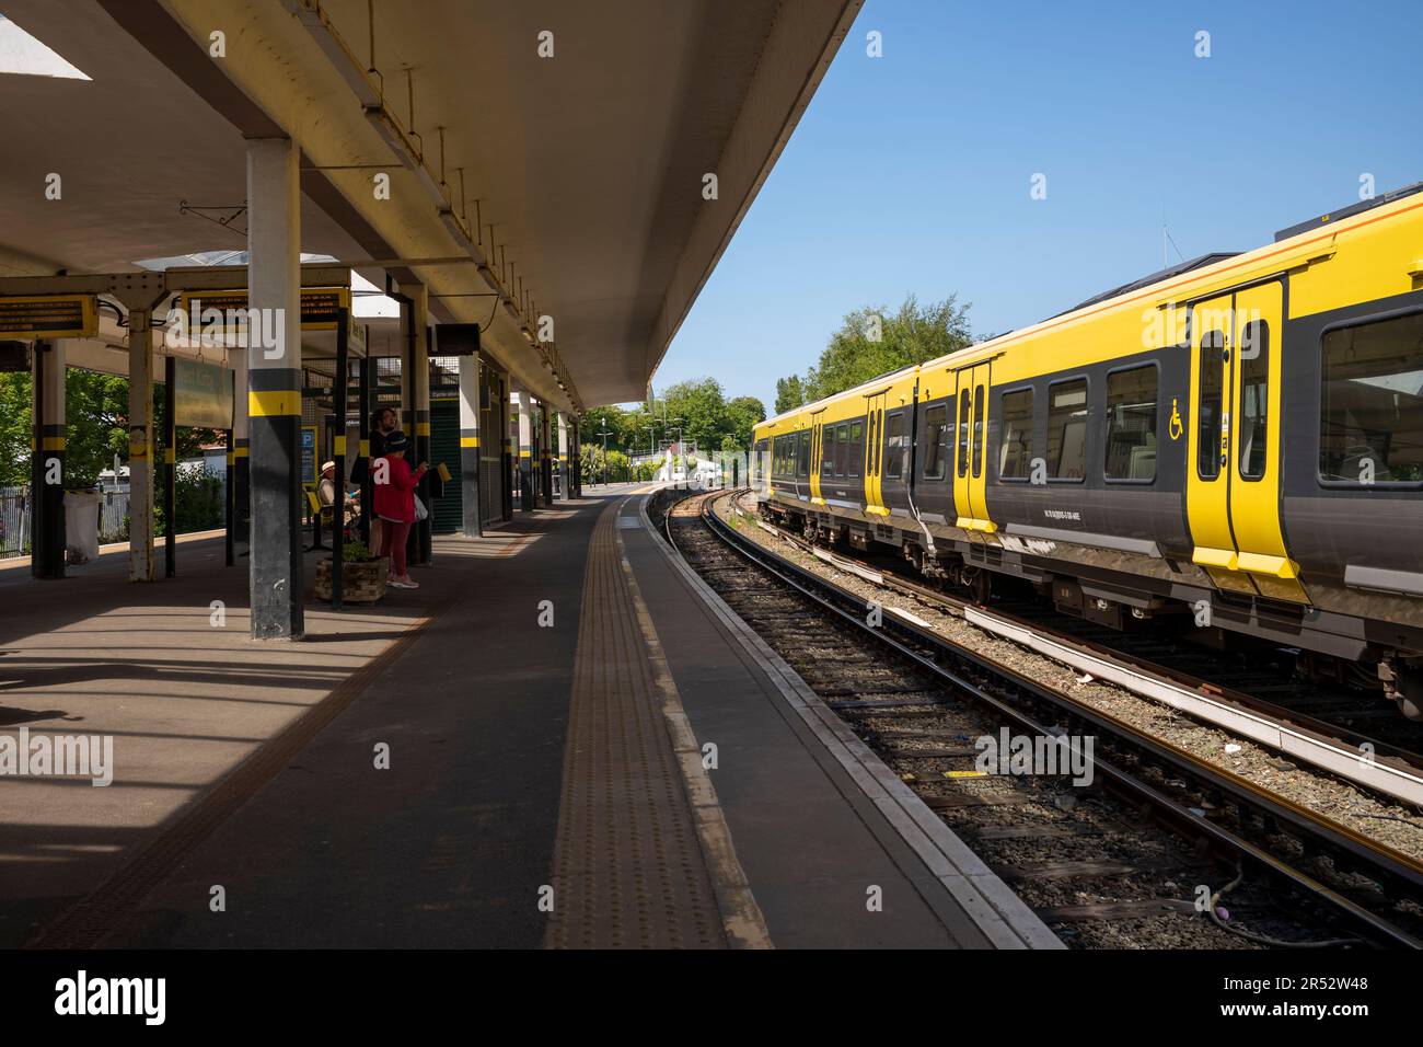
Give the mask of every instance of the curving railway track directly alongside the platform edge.
<path id="1" fill-rule="evenodd" d="M 720 520 L 721 497 L 675 506 L 669 541 L 1069 944 L 1420 947 L 1414 863 L 909 615 L 867 615 Z M 1020 742 L 1036 761 L 1003 758 Z"/>

